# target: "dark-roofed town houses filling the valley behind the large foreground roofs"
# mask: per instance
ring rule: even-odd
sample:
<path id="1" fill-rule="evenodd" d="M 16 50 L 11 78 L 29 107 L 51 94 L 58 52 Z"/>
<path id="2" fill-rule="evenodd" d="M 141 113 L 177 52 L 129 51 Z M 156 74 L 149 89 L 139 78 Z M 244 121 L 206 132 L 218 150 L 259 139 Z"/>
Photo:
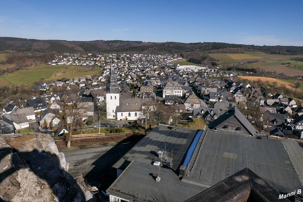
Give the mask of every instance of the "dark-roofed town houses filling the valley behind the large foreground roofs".
<path id="1" fill-rule="evenodd" d="M 116 123 L 121 121 L 126 125 L 138 119 L 140 123 L 152 124 L 152 118 L 143 119 L 147 102 L 153 106 L 163 104 L 164 108 L 178 108 L 177 122 L 180 120 L 180 123 L 195 118 L 210 123 L 224 114 L 232 103 L 261 133 L 301 138 L 303 108 L 300 101 L 245 83 L 237 77 L 239 72 L 173 65 L 172 62 L 178 59 L 181 58 L 177 55 L 56 55 L 50 65 L 87 65 L 103 71 L 96 76 L 43 82 L 32 89 L 41 92 L 40 95 L 29 100 L 19 98 L 18 103 L 2 100 L 5 107 L 1 115 L 1 133 L 20 133 L 30 128 L 35 128 L 35 132 L 47 132 L 51 127 L 57 129 L 50 134 L 67 133 L 66 128 L 60 127 L 62 120 L 56 111 L 62 105 L 62 98 L 71 102 L 70 97 L 76 96 L 77 102 L 82 103 L 82 110 L 87 112 L 81 113 L 76 125 L 95 121 L 94 103 L 106 103 L 104 120 L 115 119 Z M 249 75 L 251 72 L 240 73 Z M 109 84 L 115 86 L 114 92 L 106 87 Z M 57 93 L 51 91 L 54 87 Z M 164 119 L 162 117 L 158 123 L 177 125 L 172 114 Z"/>

